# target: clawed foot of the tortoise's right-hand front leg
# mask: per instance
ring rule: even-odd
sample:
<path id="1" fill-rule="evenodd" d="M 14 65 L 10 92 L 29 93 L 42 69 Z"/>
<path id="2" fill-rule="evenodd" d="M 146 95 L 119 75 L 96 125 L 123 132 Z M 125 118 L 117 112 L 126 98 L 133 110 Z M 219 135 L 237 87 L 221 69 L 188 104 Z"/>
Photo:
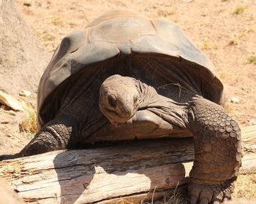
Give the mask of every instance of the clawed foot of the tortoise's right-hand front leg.
<path id="1" fill-rule="evenodd" d="M 188 187 L 189 201 L 191 204 L 219 204 L 230 200 L 234 192 L 235 180 L 232 178 L 224 182 L 206 182 L 192 178 Z"/>

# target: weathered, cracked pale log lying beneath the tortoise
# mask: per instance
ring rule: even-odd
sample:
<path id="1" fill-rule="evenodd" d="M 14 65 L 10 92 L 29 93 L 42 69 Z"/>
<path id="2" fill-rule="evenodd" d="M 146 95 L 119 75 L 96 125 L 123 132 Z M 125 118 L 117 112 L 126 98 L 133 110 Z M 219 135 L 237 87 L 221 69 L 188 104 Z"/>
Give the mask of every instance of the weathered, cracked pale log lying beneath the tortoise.
<path id="1" fill-rule="evenodd" d="M 185 184 L 193 159 L 192 138 L 135 141 L 6 160 L 0 179 L 27 203 L 138 203 Z M 246 155 L 241 173 L 255 172 L 255 161 Z"/>

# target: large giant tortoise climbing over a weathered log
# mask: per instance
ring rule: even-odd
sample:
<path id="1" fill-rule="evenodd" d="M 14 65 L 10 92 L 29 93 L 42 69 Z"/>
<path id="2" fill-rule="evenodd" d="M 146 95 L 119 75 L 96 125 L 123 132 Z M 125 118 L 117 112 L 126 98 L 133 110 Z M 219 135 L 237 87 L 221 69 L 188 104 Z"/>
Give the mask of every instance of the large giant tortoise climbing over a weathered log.
<path id="1" fill-rule="evenodd" d="M 190 203 L 221 203 L 241 166 L 241 131 L 223 106 L 213 64 L 176 23 L 114 10 L 61 41 L 39 82 L 39 131 L 18 157 L 192 136 Z"/>

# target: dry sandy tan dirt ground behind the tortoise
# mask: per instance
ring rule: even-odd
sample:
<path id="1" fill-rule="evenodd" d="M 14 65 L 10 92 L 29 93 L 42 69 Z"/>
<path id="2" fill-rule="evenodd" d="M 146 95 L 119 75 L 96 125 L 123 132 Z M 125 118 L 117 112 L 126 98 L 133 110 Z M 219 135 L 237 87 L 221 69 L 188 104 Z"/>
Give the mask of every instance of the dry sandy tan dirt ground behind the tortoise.
<path id="1" fill-rule="evenodd" d="M 85 28 L 110 9 L 133 9 L 152 19 L 178 23 L 216 66 L 225 85 L 227 111 L 242 127 L 256 125 L 256 0 L 15 0 L 15 3 L 50 55 L 65 35 Z M 33 108 L 35 93 L 29 98 L 15 96 L 19 101 L 31 103 Z M 19 133 L 18 124 L 24 118 L 19 113 L 12 114 L 0 109 L 0 119 L 4 118 L 0 122 L 0 154 L 18 152 L 30 140 L 26 133 Z"/>

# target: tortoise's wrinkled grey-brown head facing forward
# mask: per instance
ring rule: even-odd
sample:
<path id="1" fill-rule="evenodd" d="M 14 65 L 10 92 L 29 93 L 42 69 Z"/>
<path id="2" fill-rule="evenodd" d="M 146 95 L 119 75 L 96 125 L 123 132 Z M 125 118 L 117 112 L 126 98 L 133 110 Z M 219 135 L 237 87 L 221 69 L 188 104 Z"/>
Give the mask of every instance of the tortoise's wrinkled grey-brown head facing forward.
<path id="1" fill-rule="evenodd" d="M 99 89 L 99 109 L 113 124 L 127 122 L 138 110 L 139 98 L 137 80 L 116 74 Z"/>

